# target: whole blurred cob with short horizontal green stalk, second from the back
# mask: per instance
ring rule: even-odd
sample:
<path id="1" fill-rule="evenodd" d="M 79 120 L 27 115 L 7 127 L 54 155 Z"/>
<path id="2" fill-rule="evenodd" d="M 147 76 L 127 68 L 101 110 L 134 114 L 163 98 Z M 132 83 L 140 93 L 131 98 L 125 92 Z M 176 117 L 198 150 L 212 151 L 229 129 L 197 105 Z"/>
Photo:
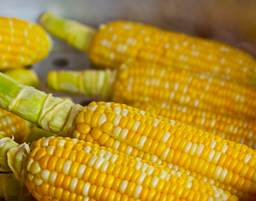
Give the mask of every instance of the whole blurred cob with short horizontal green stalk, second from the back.
<path id="1" fill-rule="evenodd" d="M 138 61 L 127 61 L 117 73 L 110 70 L 52 71 L 47 86 L 53 91 L 88 96 L 102 94 L 101 97 L 111 97 L 120 103 L 177 103 L 222 114 L 256 117 L 256 87 Z"/>

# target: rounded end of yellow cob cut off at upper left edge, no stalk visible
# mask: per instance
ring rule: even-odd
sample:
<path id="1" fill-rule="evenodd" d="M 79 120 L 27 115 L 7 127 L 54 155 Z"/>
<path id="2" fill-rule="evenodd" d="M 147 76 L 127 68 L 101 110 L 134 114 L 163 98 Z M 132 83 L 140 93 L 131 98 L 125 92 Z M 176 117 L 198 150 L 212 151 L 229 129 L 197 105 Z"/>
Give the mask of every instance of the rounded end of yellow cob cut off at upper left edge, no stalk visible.
<path id="1" fill-rule="evenodd" d="M 31 66 L 48 55 L 51 41 L 41 26 L 0 17 L 0 27 L 0 70 Z"/>

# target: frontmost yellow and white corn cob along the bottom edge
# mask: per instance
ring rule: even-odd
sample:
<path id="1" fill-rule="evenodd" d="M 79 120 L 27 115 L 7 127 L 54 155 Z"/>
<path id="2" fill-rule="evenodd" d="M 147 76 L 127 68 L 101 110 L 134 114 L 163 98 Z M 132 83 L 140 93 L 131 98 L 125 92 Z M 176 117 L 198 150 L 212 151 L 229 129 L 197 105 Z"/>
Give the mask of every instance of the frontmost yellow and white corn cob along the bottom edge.
<path id="1" fill-rule="evenodd" d="M 8 167 L 37 200 L 238 200 L 207 182 L 83 140 L 41 138 L 30 149 L 10 138 L 0 142 Z M 2 167 L 7 160 L 1 158 Z"/>

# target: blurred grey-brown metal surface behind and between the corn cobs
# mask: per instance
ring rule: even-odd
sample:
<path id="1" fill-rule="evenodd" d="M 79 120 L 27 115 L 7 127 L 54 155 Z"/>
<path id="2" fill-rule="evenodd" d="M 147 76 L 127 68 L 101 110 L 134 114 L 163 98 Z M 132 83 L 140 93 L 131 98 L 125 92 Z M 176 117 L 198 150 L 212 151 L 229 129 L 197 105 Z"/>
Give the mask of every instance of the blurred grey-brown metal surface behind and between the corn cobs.
<path id="1" fill-rule="evenodd" d="M 132 20 L 162 29 L 219 40 L 256 56 L 256 1 L 238 0 L 0 0 L 0 15 L 37 22 L 45 11 L 98 27 L 110 20 Z M 54 48 L 33 66 L 44 90 L 47 73 L 56 69 L 91 68 L 88 57 L 53 38 Z M 65 96 L 67 94 L 54 93 Z M 90 101 L 71 96 L 76 103 Z"/>

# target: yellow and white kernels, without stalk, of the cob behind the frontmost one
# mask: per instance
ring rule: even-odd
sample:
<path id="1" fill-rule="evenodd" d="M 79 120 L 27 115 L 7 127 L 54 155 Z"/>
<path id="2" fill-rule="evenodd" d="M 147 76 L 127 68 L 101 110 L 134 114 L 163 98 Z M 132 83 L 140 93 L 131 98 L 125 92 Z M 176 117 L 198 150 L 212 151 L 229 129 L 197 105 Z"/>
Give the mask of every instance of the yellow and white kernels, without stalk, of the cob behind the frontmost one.
<path id="1" fill-rule="evenodd" d="M 124 107 L 124 104 L 116 107 L 116 103 L 102 102 L 88 105 L 77 117 L 73 137 L 88 140 L 86 135 L 89 135 L 92 143 L 109 145 L 135 157 L 143 158 L 147 154 L 144 160 L 155 157 L 156 163 L 172 163 L 214 182 L 230 185 L 229 190 L 233 189 L 234 194 L 237 191 L 243 193 L 241 197 L 248 193 L 251 197 L 256 195 L 256 158 L 252 148 L 186 124 L 164 117 L 159 117 L 159 120 L 157 115 Z M 83 126 L 88 128 L 87 134 L 83 133 Z"/>

